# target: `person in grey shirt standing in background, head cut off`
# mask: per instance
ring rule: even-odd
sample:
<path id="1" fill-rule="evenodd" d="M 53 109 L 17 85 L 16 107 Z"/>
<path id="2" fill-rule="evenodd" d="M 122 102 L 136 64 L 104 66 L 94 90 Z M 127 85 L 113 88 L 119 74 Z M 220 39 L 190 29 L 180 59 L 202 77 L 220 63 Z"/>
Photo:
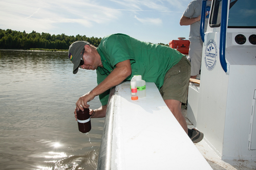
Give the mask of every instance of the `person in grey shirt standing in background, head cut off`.
<path id="1" fill-rule="evenodd" d="M 206 2 L 206 17 L 204 31 L 206 32 L 207 23 L 209 19 L 209 12 L 211 7 L 211 0 Z M 202 62 L 202 50 L 203 50 L 203 41 L 200 35 L 200 20 L 201 20 L 201 9 L 202 9 L 202 0 L 191 1 L 182 17 L 180 18 L 181 26 L 190 26 L 189 32 L 189 51 L 188 51 L 188 60 L 191 63 L 191 75 L 190 78 L 196 79 L 199 74 Z"/>

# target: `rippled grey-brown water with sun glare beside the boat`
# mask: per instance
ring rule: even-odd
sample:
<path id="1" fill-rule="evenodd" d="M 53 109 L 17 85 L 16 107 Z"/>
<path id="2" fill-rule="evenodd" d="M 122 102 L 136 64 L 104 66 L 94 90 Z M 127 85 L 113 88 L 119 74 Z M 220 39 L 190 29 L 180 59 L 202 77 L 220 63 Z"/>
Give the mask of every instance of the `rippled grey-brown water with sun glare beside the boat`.
<path id="1" fill-rule="evenodd" d="M 96 169 L 104 118 L 83 134 L 74 117 L 96 71 L 72 70 L 68 52 L 0 50 L 0 169 Z"/>

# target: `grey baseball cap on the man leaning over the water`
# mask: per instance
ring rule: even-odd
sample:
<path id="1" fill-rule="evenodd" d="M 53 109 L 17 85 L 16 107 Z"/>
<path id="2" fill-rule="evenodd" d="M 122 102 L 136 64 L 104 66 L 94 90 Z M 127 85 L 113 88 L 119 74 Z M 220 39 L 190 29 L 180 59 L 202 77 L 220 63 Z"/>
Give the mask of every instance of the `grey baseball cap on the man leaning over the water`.
<path id="1" fill-rule="evenodd" d="M 81 60 L 81 51 L 84 45 L 90 45 L 87 41 L 76 41 L 69 46 L 69 59 L 74 64 L 73 74 L 76 74 Z"/>

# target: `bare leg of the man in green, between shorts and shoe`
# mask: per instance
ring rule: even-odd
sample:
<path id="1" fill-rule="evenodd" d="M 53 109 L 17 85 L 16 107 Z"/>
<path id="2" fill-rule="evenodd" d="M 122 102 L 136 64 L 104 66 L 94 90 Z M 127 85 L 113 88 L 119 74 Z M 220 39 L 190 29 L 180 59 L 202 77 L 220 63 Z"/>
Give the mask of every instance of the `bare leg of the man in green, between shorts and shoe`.
<path id="1" fill-rule="evenodd" d="M 184 118 L 184 116 L 181 113 L 181 102 L 176 100 L 164 100 L 165 104 L 168 106 L 170 111 L 173 113 L 175 118 L 180 123 L 181 127 L 184 129 L 184 131 L 187 133 L 187 123 Z"/>

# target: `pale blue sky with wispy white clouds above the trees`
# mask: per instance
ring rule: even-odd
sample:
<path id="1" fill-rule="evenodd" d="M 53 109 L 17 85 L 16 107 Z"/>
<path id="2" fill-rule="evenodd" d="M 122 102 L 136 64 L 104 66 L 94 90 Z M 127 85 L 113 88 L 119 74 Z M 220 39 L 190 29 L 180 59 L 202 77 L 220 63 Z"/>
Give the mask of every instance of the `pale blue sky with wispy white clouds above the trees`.
<path id="1" fill-rule="evenodd" d="M 188 39 L 180 18 L 191 0 L 0 0 L 0 29 L 103 38 L 123 33 L 168 44 Z"/>

